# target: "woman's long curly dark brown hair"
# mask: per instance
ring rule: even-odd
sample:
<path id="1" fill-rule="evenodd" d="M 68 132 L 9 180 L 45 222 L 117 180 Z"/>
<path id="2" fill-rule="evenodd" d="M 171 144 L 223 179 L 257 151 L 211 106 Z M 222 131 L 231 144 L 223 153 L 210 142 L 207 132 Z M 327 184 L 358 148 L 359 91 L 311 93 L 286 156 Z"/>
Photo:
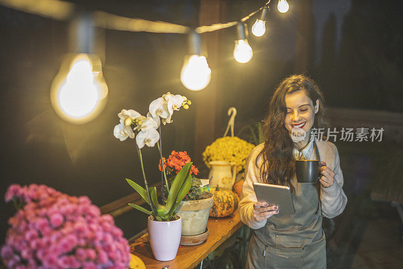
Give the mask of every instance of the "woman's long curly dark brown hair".
<path id="1" fill-rule="evenodd" d="M 313 103 L 319 100 L 319 110 L 314 115 L 312 128 L 327 128 L 324 98 L 316 83 L 305 75 L 287 77 L 277 86 L 263 119 L 264 146 L 258 155 L 262 157 L 263 163 L 260 168 L 258 158 L 255 163 L 260 169 L 263 182 L 289 186 L 293 194 L 295 193 L 295 187 L 291 184 L 295 176 L 293 149 L 298 146 L 292 141 L 284 123 L 287 115 L 286 94 L 297 91 L 305 91 Z"/>

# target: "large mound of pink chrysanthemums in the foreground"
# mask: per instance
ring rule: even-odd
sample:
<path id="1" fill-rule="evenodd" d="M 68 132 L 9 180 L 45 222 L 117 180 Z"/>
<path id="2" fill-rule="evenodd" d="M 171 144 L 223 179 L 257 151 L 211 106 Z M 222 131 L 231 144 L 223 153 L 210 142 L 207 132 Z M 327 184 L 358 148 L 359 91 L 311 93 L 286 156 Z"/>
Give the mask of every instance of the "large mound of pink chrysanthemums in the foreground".
<path id="1" fill-rule="evenodd" d="M 45 185 L 11 185 L 7 202 L 23 205 L 0 255 L 9 268 L 126 268 L 129 245 L 110 215 L 86 196 Z"/>

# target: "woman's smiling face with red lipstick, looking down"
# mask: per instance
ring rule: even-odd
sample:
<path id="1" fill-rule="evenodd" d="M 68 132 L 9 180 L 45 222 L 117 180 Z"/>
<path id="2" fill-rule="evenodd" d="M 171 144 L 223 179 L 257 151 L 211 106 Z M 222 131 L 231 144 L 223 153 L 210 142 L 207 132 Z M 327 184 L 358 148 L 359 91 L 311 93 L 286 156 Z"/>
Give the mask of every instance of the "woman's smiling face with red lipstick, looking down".
<path id="1" fill-rule="evenodd" d="M 318 112 L 319 101 L 312 100 L 306 95 L 305 90 L 287 93 L 285 97 L 287 115 L 285 119 L 285 127 L 291 135 L 293 128 L 301 128 L 307 134 L 305 139 L 301 141 L 300 146 L 305 146 L 309 141 L 309 131 L 312 128 L 315 114 Z"/>

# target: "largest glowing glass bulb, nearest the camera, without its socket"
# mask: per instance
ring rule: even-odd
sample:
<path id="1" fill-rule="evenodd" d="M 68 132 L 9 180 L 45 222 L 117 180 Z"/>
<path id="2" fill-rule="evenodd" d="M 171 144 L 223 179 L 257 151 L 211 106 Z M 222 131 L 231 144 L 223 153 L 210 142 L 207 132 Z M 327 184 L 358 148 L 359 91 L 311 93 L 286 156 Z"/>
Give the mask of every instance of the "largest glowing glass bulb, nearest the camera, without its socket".
<path id="1" fill-rule="evenodd" d="M 101 61 L 86 54 L 76 55 L 73 61 L 64 61 L 50 93 L 56 113 L 74 123 L 86 123 L 96 118 L 105 106 L 107 94 Z"/>

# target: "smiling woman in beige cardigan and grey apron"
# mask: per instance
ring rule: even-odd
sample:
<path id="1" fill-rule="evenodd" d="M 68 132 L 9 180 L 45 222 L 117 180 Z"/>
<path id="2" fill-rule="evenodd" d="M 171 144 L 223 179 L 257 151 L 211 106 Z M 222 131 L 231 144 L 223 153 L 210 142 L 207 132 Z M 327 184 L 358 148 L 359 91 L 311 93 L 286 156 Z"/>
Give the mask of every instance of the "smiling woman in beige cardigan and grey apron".
<path id="1" fill-rule="evenodd" d="M 304 75 L 284 79 L 271 99 L 263 121 L 265 142 L 246 159 L 239 203 L 242 222 L 254 229 L 248 268 L 326 267 L 322 216 L 333 218 L 342 213 L 347 197 L 337 148 L 311 136 L 312 128 L 327 130 L 323 104 L 318 86 Z M 292 137 L 292 131 L 302 132 L 300 129 L 306 136 Z M 317 184 L 299 184 L 295 160 L 316 159 L 315 147 L 322 160 L 322 177 Z M 296 213 L 282 213 L 277 206 L 258 202 L 253 182 L 289 186 Z"/>

